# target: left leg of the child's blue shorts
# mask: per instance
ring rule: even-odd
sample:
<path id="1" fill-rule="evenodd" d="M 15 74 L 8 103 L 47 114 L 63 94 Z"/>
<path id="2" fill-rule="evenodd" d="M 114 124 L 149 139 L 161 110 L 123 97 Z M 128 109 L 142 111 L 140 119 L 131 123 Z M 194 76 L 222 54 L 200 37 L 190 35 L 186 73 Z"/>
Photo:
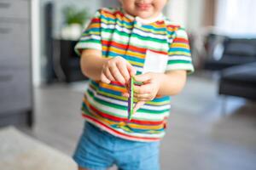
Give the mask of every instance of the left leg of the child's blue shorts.
<path id="1" fill-rule="evenodd" d="M 113 165 L 111 140 L 108 136 L 97 130 L 96 127 L 85 122 L 84 132 L 73 155 L 79 170 L 106 170 Z"/>

